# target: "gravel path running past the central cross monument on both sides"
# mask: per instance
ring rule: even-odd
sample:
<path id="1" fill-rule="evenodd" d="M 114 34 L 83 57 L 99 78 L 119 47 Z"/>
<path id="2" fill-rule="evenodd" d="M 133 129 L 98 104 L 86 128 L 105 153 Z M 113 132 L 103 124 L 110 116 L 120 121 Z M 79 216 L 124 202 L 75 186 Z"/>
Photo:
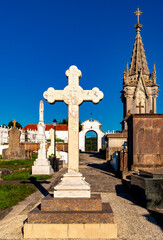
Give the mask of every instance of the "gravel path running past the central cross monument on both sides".
<path id="1" fill-rule="evenodd" d="M 117 240 L 163 240 L 161 230 L 163 211 L 149 212 L 139 206 L 129 190 L 122 185 L 120 179 L 114 176 L 112 168 L 100 158 L 99 154 L 80 154 L 80 171 L 86 181 L 91 184 L 92 193 L 101 193 L 102 201 L 110 203 L 117 223 Z M 58 179 L 59 176 L 53 180 L 50 190 L 53 189 Z M 35 201 L 27 200 L 30 204 L 22 202 L 24 207 L 21 204 L 17 207 L 19 211 L 12 221 L 11 217 L 8 221 L 5 219 L 0 221 L 0 239 L 23 239 L 23 221 L 26 220 L 28 212 L 37 206 L 43 197 L 40 192 L 34 194 Z"/>

